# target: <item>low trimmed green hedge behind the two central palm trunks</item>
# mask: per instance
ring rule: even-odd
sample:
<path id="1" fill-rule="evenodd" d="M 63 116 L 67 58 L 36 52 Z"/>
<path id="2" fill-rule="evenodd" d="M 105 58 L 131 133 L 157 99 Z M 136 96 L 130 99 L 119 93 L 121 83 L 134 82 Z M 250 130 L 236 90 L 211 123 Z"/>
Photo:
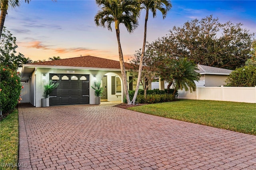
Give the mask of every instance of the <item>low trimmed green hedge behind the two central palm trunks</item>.
<path id="1" fill-rule="evenodd" d="M 170 89 L 170 94 L 167 93 L 167 89 L 165 90 L 147 90 L 146 99 L 144 97 L 144 90 L 139 89 L 138 95 L 136 97 L 135 103 L 162 103 L 162 102 L 169 102 L 173 101 L 176 95 L 172 95 L 174 89 Z M 134 90 L 129 91 L 130 99 L 134 96 Z M 126 97 L 124 97 L 124 103 L 127 103 Z"/>

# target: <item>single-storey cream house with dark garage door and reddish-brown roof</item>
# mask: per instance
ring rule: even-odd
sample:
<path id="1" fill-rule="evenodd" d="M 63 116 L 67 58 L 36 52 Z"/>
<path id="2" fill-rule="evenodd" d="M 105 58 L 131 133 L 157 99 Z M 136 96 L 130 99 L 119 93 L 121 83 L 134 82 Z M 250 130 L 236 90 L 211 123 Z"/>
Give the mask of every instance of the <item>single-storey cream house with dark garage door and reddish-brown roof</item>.
<path id="1" fill-rule="evenodd" d="M 125 63 L 125 68 L 132 69 L 132 65 Z M 134 73 L 126 73 L 127 80 L 132 80 Z M 95 104 L 96 97 L 91 86 L 98 81 L 104 89 L 103 101 L 121 102 L 125 96 L 119 61 L 90 55 L 25 64 L 21 76 L 30 92 L 26 94 L 29 98 L 26 101 L 35 107 L 41 107 L 44 85 L 49 80 L 60 84 L 47 99 L 47 106 Z M 129 82 L 128 88 L 133 90 L 136 82 Z"/>

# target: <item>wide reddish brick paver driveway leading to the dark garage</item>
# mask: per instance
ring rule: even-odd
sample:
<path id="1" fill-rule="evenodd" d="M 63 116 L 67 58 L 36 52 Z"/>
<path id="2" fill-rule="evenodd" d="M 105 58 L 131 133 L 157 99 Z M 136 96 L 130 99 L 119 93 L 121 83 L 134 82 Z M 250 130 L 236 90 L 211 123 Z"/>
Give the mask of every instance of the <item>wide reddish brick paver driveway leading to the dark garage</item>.
<path id="1" fill-rule="evenodd" d="M 110 106 L 19 106 L 20 169 L 256 169 L 256 136 Z"/>

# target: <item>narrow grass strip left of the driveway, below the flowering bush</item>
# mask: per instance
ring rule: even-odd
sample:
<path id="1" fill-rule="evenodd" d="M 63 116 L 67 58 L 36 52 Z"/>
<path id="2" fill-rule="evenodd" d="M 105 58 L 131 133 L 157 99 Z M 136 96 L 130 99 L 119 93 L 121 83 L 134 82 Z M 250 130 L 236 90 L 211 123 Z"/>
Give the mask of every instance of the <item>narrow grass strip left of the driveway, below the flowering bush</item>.
<path id="1" fill-rule="evenodd" d="M 18 169 L 18 124 L 17 109 L 0 122 L 0 169 Z"/>

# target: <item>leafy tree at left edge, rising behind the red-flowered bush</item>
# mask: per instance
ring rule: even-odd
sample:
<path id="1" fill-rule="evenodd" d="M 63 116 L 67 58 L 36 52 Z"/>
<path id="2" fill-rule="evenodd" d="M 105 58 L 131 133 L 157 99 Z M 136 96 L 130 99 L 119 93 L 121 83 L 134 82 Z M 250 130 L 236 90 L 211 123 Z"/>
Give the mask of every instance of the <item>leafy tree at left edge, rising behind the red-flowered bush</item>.
<path id="1" fill-rule="evenodd" d="M 3 29 L 2 39 L 0 42 L 0 60 L 1 65 L 8 66 L 10 69 L 17 70 L 18 67 L 22 67 L 25 60 L 24 55 L 18 53 L 16 55 L 16 37 L 14 37 L 10 31 Z"/>

